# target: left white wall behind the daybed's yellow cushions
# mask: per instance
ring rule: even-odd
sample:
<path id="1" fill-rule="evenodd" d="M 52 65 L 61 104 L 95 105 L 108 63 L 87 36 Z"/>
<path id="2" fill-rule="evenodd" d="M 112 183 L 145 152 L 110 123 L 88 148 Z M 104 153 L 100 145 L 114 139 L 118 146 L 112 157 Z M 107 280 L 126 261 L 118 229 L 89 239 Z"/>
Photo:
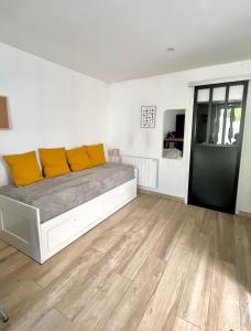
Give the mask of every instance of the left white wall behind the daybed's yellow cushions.
<path id="1" fill-rule="evenodd" d="M 107 85 L 0 43 L 0 95 L 11 130 L 0 130 L 0 154 L 39 147 L 106 142 Z M 0 161 L 0 185 L 7 183 Z"/>

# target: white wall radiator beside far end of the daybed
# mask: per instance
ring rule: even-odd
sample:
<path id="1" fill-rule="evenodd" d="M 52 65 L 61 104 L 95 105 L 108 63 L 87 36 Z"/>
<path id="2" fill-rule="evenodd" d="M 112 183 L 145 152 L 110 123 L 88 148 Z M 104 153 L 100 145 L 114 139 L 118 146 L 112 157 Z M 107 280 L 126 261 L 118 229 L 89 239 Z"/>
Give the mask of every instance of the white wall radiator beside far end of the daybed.
<path id="1" fill-rule="evenodd" d="M 137 168 L 139 185 L 152 189 L 157 188 L 157 159 L 122 156 L 122 162 Z"/>

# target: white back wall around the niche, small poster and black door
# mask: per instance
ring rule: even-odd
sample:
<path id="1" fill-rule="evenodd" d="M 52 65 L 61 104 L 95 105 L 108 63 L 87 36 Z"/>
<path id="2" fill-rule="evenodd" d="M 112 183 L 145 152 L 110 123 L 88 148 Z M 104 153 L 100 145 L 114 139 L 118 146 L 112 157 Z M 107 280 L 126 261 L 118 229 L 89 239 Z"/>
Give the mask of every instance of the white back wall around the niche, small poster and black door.
<path id="1" fill-rule="evenodd" d="M 251 61 L 245 61 L 110 85 L 109 146 L 120 148 L 123 154 L 157 158 L 160 160 L 157 191 L 186 199 L 194 96 L 194 88 L 188 87 L 188 84 L 218 78 L 230 81 L 228 77 L 250 74 Z M 156 105 L 155 129 L 140 128 L 140 109 L 143 105 Z M 166 109 L 186 109 L 185 146 L 182 160 L 162 158 L 163 113 Z M 247 109 L 247 128 L 251 126 L 250 113 L 251 103 Z M 251 129 L 244 130 L 244 141 L 238 210 L 251 212 L 251 160 L 248 156 Z"/>

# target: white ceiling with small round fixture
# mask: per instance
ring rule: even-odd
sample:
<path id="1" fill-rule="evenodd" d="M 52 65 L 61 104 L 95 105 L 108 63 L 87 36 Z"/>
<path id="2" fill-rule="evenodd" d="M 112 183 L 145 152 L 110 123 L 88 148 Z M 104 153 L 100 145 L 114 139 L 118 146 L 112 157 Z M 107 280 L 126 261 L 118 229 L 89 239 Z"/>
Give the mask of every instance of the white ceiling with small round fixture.
<path id="1" fill-rule="evenodd" d="M 0 0 L 0 41 L 105 82 L 139 78 L 251 58 L 251 0 Z"/>

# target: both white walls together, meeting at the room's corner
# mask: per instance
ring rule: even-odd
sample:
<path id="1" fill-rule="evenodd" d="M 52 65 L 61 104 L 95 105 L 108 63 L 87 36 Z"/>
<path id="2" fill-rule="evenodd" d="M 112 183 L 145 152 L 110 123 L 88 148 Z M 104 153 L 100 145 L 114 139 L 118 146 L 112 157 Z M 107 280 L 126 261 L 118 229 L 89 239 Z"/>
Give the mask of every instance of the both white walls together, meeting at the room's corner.
<path id="1" fill-rule="evenodd" d="M 0 154 L 39 147 L 103 141 L 124 154 L 160 159 L 157 191 L 187 195 L 193 88 L 189 82 L 251 74 L 251 61 L 112 84 L 0 43 L 0 95 L 8 96 L 11 130 L 0 130 Z M 250 87 L 251 92 L 251 87 Z M 108 99 L 109 94 L 109 99 Z M 108 107 L 109 104 L 109 107 Z M 142 105 L 156 105 L 155 129 L 140 128 Z M 186 109 L 182 160 L 162 158 L 163 113 Z M 251 212 L 251 95 L 238 191 L 238 209 Z M 7 183 L 0 161 L 0 185 Z"/>

